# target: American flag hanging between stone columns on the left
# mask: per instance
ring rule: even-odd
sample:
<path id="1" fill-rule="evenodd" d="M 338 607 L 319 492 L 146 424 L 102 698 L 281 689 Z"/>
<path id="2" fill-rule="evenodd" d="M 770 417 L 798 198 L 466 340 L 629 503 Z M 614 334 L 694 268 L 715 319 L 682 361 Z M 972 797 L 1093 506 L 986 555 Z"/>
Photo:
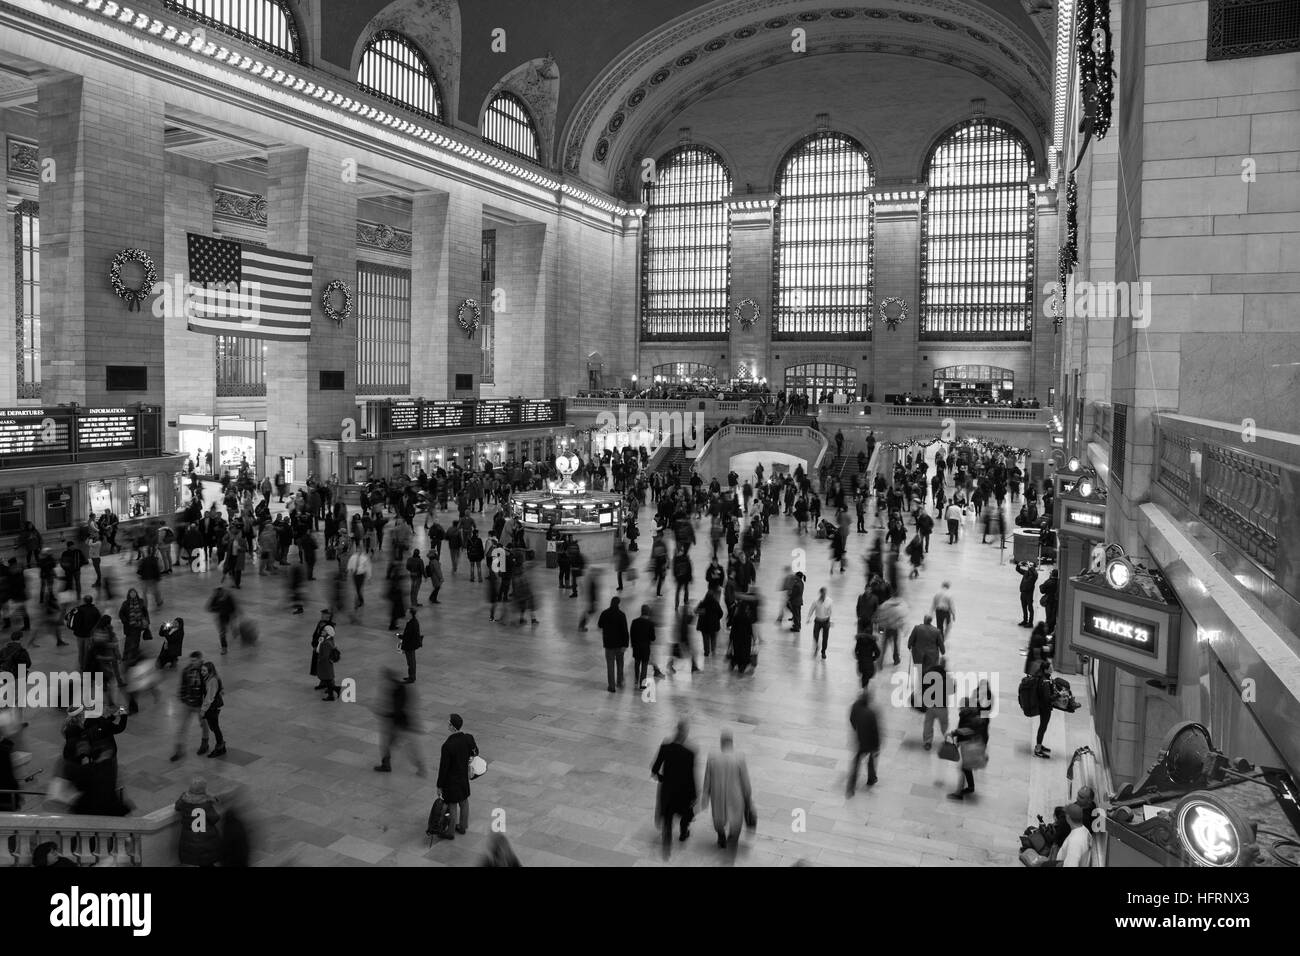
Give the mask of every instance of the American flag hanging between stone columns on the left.
<path id="1" fill-rule="evenodd" d="M 312 258 L 188 234 L 191 332 L 302 342 L 312 334 Z"/>

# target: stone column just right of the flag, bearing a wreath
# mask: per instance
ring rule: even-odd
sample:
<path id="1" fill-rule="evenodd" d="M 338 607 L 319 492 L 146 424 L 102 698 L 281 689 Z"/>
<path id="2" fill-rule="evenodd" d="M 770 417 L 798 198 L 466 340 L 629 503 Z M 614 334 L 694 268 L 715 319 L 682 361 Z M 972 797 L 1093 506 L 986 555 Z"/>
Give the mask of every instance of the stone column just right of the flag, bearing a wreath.
<path id="1" fill-rule="evenodd" d="M 330 281 L 343 280 L 354 295 L 356 287 L 356 189 L 344 182 L 343 159 L 303 147 L 266 155 L 266 245 L 313 258 L 311 339 L 266 343 L 264 468 L 274 473 L 280 458 L 292 458 L 299 483 L 311 467 L 311 440 L 337 438 L 339 423 L 356 418 L 356 303 L 341 325 L 320 307 Z M 342 392 L 321 392 L 322 369 L 343 372 Z"/>

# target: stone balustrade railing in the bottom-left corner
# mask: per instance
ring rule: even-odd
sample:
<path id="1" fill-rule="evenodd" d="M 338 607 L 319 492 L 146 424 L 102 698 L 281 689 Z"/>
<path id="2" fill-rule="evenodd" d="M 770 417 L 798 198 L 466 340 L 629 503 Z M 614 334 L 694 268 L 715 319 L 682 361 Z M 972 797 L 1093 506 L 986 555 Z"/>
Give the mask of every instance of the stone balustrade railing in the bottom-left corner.
<path id="1" fill-rule="evenodd" d="M 173 806 L 143 817 L 0 813 L 0 868 L 31 866 L 43 843 L 81 866 L 173 866 L 178 823 Z"/>

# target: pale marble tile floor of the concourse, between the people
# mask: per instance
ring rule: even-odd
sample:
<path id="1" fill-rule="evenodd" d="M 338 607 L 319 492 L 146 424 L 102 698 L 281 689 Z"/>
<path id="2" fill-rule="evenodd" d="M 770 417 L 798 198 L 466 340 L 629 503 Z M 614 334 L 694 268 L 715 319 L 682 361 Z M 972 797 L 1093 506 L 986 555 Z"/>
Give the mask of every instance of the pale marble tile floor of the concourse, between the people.
<path id="1" fill-rule="evenodd" d="M 642 524 L 650 525 L 647 512 Z M 183 615 L 187 650 L 198 648 L 216 659 L 225 682 L 221 722 L 229 754 L 195 756 L 198 731 L 191 728 L 186 758 L 169 761 L 178 706 L 169 672 L 161 697 L 146 697 L 120 739 L 121 784 L 139 813 L 172 804 L 196 773 L 208 777 L 216 792 L 243 784 L 255 808 L 260 865 L 472 865 L 495 826 L 526 866 L 660 866 L 649 767 L 659 743 L 686 718 L 701 774 L 723 728 L 734 734 L 748 757 L 759 823 L 742 839 L 737 865 L 1017 865 L 1018 834 L 1035 814 L 1065 801 L 1066 761 L 1089 741 L 1091 717 L 1087 705 L 1072 715 L 1054 714 L 1046 741 L 1053 758 L 1034 758 L 1036 721 L 1023 717 L 1015 700 L 1028 635 L 1015 623 L 1019 579 L 1009 550 L 982 545 L 970 525 L 965 531 L 956 546 L 936 533 L 920 578 L 907 581 L 905 592 L 919 620 L 940 583 L 950 580 L 957 604 L 950 671 L 984 671 L 997 679 L 989 766 L 978 775 L 978 795 L 965 803 L 945 799 L 957 769 L 922 749 L 920 715 L 890 705 L 889 667 L 872 682 L 884 736 L 880 783 L 859 783 L 858 795 L 845 797 L 853 753 L 848 713 L 858 692 L 852 609 L 871 536 L 854 535 L 849 572 L 829 575 L 826 542 L 796 536 L 793 518 L 784 516 L 764 540 L 758 574 L 767 598 L 758 669 L 740 678 L 723 659 L 710 658 L 701 674 L 659 682 L 653 702 L 632 689 L 630 679 L 627 689 L 606 692 L 599 631 L 577 630 L 582 601 L 569 600 L 556 587 L 556 572 L 541 561 L 529 572 L 541 624 L 520 628 L 488 622 L 482 585 L 468 583 L 464 564 L 452 576 L 445 551 L 442 604 L 420 609 L 425 645 L 416 691 L 422 745 L 436 763 L 447 714 L 456 711 L 490 763 L 473 783 L 469 834 L 454 842 L 428 845 L 433 778 L 417 777 L 408 754 L 394 754 L 391 774 L 372 770 L 380 740 L 372 710 L 378 675 L 384 666 L 402 665 L 386 627 L 381 580 L 374 579 L 360 620 L 350 623 L 343 615 L 338 628 L 339 676 L 355 679 L 358 700 L 324 702 L 307 670 L 329 572 L 312 585 L 303 615 L 291 614 L 286 604 L 283 575 L 246 574 L 235 594 L 242 611 L 260 624 L 261 639 L 252 646 L 234 645 L 225 657 L 216 657 L 216 626 L 204 611 L 218 574 L 177 571 L 164 578 L 165 607 L 153 611 L 155 626 L 164 611 Z M 707 531 L 701 532 L 707 542 Z M 796 548 L 807 549 L 807 602 L 823 585 L 836 602 L 826 661 L 810 652 L 810 626 L 792 635 L 772 623 L 784 566 Z M 707 551 L 707 544 L 694 549 L 697 581 Z M 644 567 L 649 549 L 634 557 Z M 105 602 L 116 617 L 122 585 L 135 579 L 134 566 L 125 555 L 104 564 L 118 583 L 117 598 Z M 385 566 L 385 559 L 376 562 L 376 578 Z M 606 601 L 611 587 L 607 574 Z M 630 618 L 649 601 L 667 620 L 672 596 L 667 588 L 664 593 L 655 600 L 642 571 L 638 580 L 627 581 L 623 605 Z M 56 649 L 48 635 L 39 640 L 36 669 L 75 667 L 74 648 Z M 660 636 L 660 654 L 666 645 Z M 1086 702 L 1084 680 L 1072 679 Z M 32 784 L 43 786 L 57 769 L 61 714 L 29 711 L 29 719 L 20 749 L 32 753 L 27 771 L 44 767 Z M 673 845 L 667 865 L 723 864 L 701 819 L 688 843 Z"/>

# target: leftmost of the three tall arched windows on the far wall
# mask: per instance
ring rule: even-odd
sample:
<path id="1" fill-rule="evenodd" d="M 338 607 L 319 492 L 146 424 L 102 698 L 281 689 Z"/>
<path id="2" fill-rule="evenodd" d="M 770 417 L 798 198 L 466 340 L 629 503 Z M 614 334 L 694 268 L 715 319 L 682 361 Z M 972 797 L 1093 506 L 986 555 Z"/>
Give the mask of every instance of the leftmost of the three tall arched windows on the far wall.
<path id="1" fill-rule="evenodd" d="M 723 338 L 731 294 L 731 173 L 703 146 L 682 146 L 646 185 L 641 234 L 644 338 Z"/>

